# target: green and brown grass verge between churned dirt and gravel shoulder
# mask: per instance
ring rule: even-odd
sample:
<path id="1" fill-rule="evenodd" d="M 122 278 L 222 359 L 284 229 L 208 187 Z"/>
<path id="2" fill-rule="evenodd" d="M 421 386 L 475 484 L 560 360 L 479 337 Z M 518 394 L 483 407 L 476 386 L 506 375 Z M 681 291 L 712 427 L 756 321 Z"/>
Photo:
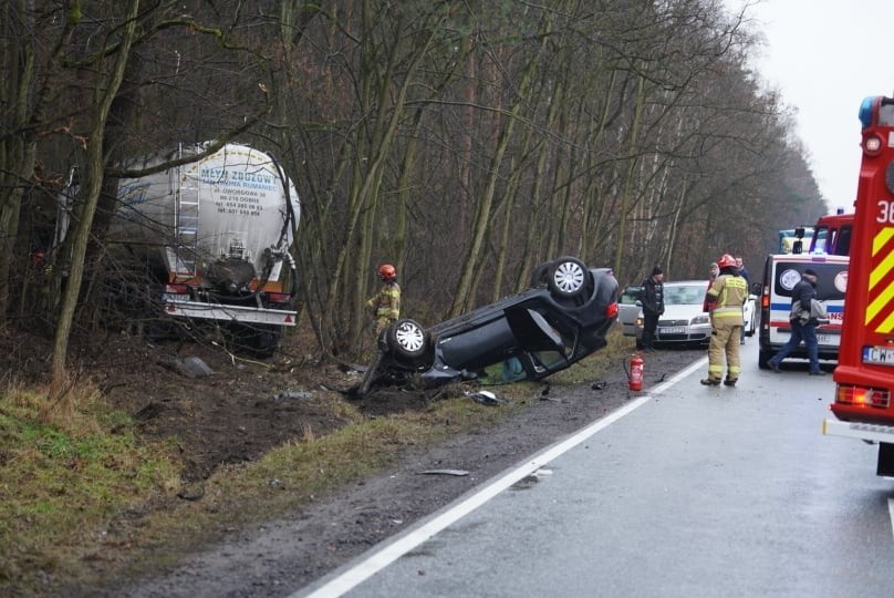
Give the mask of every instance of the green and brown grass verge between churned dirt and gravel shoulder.
<path id="1" fill-rule="evenodd" d="M 607 341 L 549 383 L 592 382 L 633 351 L 617 328 Z M 190 488 L 198 499 L 186 501 L 177 498 L 184 488 L 176 439 L 142 442 L 131 419 L 89 383 L 64 394 L 10 386 L 0 396 L 0 594 L 6 587 L 46 595 L 171 564 L 239 526 L 324 499 L 407 450 L 493 426 L 541 389 L 501 386 L 499 409 L 449 389 L 422 411 L 375 419 L 326 393 L 346 425 L 320 437 L 304 430 L 254 462 L 222 466 Z"/>

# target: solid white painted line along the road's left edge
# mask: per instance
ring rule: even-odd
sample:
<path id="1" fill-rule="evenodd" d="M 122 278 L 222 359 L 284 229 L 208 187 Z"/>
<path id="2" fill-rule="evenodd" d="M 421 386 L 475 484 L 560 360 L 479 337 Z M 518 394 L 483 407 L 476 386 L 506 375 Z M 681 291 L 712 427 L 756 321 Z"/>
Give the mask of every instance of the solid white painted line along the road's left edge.
<path id="1" fill-rule="evenodd" d="M 349 570 L 333 578 L 331 581 L 326 582 L 324 586 L 321 586 L 312 594 L 308 595 L 308 597 L 334 598 L 336 596 L 342 596 L 344 592 L 358 586 L 365 579 L 368 579 L 377 571 L 384 569 L 385 567 L 387 567 L 388 565 L 391 565 L 392 563 L 394 563 L 408 551 L 413 550 L 414 548 L 416 548 L 417 546 L 419 546 L 420 544 L 423 544 L 437 533 L 441 532 L 443 529 L 454 524 L 455 522 L 459 520 L 460 518 L 465 517 L 466 515 L 468 515 L 479 506 L 484 505 L 485 503 L 487 503 L 488 501 L 490 501 L 505 489 L 509 488 L 510 486 L 512 486 L 512 484 L 519 482 L 520 480 L 527 477 L 528 475 L 531 475 L 533 472 L 544 466 L 550 461 L 554 460 L 561 454 L 570 451 L 574 446 L 584 442 L 585 440 L 594 435 L 596 432 L 604 430 L 605 427 L 621 420 L 623 416 L 632 413 L 634 410 L 646 404 L 655 395 L 663 393 L 664 391 L 666 391 L 667 389 L 679 382 L 682 379 L 693 373 L 695 370 L 704 368 L 707 361 L 708 361 L 707 357 L 699 359 L 685 370 L 678 372 L 669 380 L 657 385 L 648 394 L 641 396 L 631 403 L 627 403 L 617 411 L 614 411 L 611 414 L 606 415 L 605 417 L 602 417 L 601 420 L 591 423 L 586 427 L 581 429 L 576 434 L 566 439 L 565 441 L 554 446 L 545 448 L 543 452 L 531 457 L 530 461 L 518 466 L 517 468 L 507 473 L 502 477 L 491 482 L 489 485 L 485 486 L 484 488 L 481 488 L 474 495 L 469 496 L 461 503 L 453 507 L 449 507 L 444 513 L 435 516 L 433 519 L 428 520 L 422 526 L 410 530 L 407 535 L 398 538 L 397 540 L 393 542 L 392 544 L 388 544 L 387 546 L 384 546 L 382 549 L 376 550 L 374 554 L 370 555 L 363 561 L 358 563 Z M 300 592 L 297 592 L 293 594 L 292 596 L 297 597 L 299 595 Z"/>

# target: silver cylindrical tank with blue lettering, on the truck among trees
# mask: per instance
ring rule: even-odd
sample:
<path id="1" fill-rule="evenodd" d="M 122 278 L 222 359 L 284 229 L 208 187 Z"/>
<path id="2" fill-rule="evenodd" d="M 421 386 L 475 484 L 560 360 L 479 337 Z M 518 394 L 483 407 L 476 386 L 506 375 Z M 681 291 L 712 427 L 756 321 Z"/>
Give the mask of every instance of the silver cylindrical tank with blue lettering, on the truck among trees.
<path id="1" fill-rule="evenodd" d="M 150 168 L 200 153 L 207 145 L 145 156 L 126 166 Z M 299 216 L 294 185 L 277 162 L 264 152 L 230 143 L 197 162 L 122 179 L 107 240 L 166 269 L 168 281 L 277 281 Z"/>

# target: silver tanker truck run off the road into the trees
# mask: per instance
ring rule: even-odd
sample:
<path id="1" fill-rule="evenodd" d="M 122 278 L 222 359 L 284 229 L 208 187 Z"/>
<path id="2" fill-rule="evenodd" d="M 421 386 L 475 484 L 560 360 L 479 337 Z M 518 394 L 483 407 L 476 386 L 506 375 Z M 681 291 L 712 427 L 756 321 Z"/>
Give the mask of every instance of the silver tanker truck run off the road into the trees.
<path id="1" fill-rule="evenodd" d="M 157 168 L 208 145 L 180 146 L 122 166 Z M 76 190 L 74 176 L 61 198 L 56 241 L 64 238 Z M 116 264 L 138 265 L 129 271 L 145 275 L 143 295 L 150 301 L 136 303 L 156 312 L 147 316 L 190 328 L 214 324 L 237 350 L 269 357 L 283 328 L 295 326 L 298 276 L 289 247 L 299 217 L 294 185 L 276 159 L 229 143 L 195 162 L 119 179 L 106 250 Z M 133 285 L 118 285 L 115 292 L 136 295 Z"/>

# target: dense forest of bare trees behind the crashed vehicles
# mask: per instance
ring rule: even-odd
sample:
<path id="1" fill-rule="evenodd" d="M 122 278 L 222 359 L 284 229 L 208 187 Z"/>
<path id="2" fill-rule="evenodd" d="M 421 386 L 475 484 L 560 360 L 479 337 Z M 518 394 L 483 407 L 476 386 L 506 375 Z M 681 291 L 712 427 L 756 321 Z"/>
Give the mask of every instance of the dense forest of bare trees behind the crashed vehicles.
<path id="1" fill-rule="evenodd" d="M 562 255 L 622 286 L 655 264 L 701 278 L 721 252 L 756 272 L 778 229 L 827 212 L 749 66 L 759 42 L 719 0 L 9 0 L 0 318 L 54 338 L 64 377 L 104 303 L 82 281 L 112 267 L 115 165 L 206 141 L 267 151 L 294 182 L 321 354 L 368 349 L 383 261 L 423 324 Z M 73 166 L 76 231 L 53 247 Z"/>

